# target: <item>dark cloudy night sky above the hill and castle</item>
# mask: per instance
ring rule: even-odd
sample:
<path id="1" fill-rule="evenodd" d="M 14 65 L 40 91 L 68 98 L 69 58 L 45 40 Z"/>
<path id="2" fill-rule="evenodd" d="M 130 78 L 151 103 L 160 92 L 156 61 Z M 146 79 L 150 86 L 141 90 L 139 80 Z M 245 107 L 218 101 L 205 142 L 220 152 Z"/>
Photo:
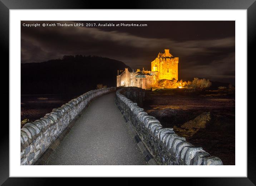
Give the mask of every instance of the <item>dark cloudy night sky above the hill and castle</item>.
<path id="1" fill-rule="evenodd" d="M 40 26 L 26 27 L 23 23 Z M 43 23 L 147 26 L 43 27 Z M 21 21 L 21 63 L 81 54 L 151 70 L 151 61 L 164 49 L 179 57 L 179 79 L 200 77 L 235 84 L 235 21 Z"/>

